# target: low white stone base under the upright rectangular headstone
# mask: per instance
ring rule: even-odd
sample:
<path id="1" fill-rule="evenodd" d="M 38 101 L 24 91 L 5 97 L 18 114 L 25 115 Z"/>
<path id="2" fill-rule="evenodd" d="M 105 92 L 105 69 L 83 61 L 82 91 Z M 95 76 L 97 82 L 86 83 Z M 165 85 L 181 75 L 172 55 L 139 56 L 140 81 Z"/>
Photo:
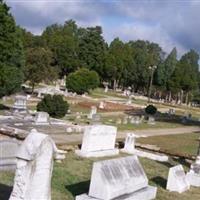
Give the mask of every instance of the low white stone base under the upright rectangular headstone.
<path id="1" fill-rule="evenodd" d="M 103 150 L 103 151 L 90 151 L 90 152 L 83 152 L 81 150 L 76 150 L 75 153 L 80 157 L 105 157 L 105 156 L 115 156 L 119 154 L 118 149 L 111 149 L 111 150 Z"/>

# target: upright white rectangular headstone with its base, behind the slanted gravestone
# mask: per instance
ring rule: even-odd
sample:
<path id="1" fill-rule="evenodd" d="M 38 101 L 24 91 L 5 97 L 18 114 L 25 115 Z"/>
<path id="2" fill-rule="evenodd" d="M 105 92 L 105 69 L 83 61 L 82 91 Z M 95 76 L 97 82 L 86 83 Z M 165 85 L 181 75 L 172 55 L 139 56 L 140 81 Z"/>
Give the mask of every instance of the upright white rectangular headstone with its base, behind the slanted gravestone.
<path id="1" fill-rule="evenodd" d="M 82 157 L 111 156 L 119 153 L 115 149 L 117 128 L 107 125 L 87 126 L 84 130 L 81 150 L 76 154 Z"/>

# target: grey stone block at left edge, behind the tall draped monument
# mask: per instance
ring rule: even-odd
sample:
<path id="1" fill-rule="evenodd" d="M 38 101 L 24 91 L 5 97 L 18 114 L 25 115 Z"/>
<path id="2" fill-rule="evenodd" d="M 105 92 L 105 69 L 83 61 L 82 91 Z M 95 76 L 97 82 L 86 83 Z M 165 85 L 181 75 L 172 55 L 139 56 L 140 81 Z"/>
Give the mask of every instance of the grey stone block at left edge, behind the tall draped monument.
<path id="1" fill-rule="evenodd" d="M 0 171 L 16 169 L 17 140 L 0 140 Z"/>

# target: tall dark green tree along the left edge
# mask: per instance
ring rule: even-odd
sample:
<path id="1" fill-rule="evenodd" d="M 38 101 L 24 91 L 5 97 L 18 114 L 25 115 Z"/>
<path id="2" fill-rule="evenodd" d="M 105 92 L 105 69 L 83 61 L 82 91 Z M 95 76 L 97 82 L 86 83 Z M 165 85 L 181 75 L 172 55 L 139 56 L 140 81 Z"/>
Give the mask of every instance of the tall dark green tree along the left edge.
<path id="1" fill-rule="evenodd" d="M 9 12 L 0 1 L 0 97 L 20 89 L 23 81 L 24 51 L 22 34 Z"/>

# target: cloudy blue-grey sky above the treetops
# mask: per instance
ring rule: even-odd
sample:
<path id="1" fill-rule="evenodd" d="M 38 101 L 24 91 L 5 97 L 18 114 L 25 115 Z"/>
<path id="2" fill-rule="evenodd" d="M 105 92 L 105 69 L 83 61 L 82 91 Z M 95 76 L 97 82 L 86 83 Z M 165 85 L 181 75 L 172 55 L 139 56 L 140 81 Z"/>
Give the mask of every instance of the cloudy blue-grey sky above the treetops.
<path id="1" fill-rule="evenodd" d="M 47 25 L 74 19 L 79 26 L 100 25 L 107 42 L 150 40 L 179 56 L 200 51 L 200 0 L 5 0 L 17 24 L 34 34 Z"/>

